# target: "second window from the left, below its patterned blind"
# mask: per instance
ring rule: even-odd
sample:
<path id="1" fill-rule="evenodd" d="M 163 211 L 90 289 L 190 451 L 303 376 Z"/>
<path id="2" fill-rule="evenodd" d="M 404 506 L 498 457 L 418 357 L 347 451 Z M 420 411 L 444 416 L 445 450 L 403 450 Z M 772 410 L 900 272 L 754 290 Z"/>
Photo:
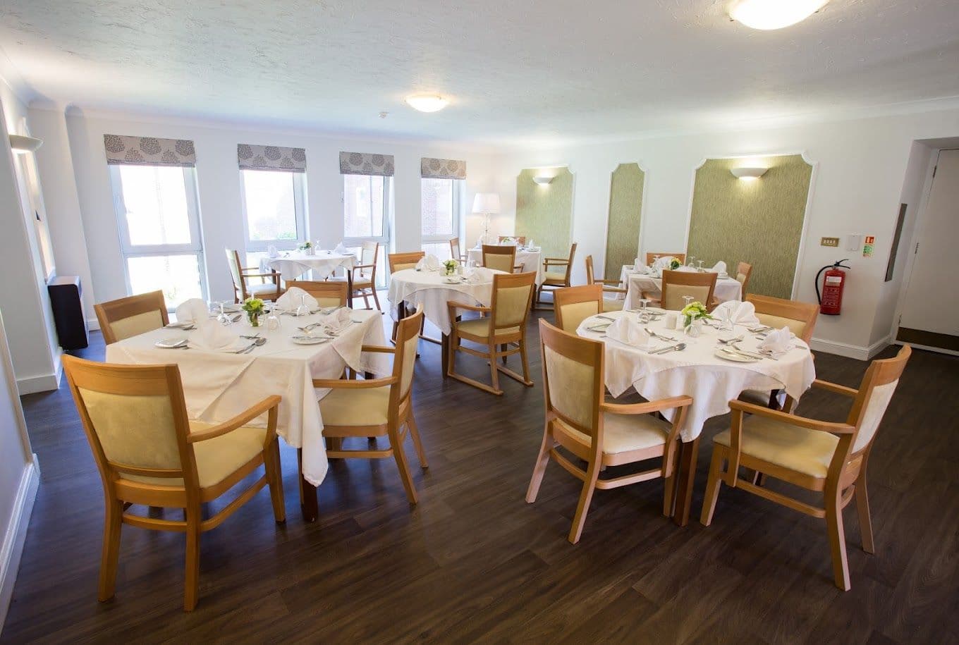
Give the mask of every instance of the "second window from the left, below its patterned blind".
<path id="1" fill-rule="evenodd" d="M 291 250 L 307 239 L 303 173 L 244 169 L 240 177 L 247 266 L 255 266 L 271 245 Z"/>

